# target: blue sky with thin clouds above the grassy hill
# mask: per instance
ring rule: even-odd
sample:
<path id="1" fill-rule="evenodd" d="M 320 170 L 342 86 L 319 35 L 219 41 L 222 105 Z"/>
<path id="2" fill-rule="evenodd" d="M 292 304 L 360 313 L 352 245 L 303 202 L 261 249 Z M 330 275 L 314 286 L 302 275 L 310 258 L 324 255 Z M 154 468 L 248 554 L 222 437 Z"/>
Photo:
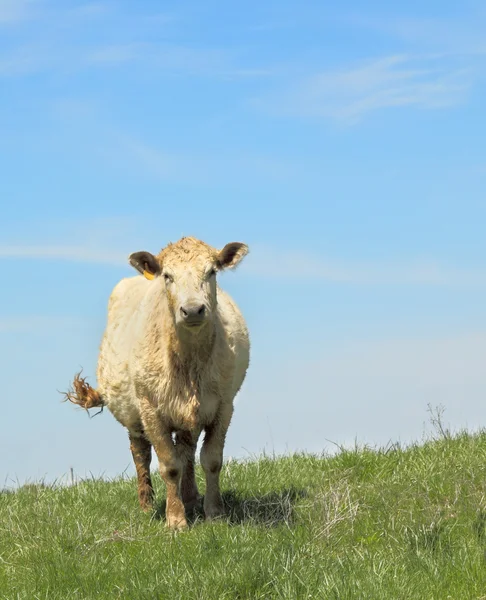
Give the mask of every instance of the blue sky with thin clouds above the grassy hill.
<path id="1" fill-rule="evenodd" d="M 132 473 L 95 381 L 126 257 L 182 235 L 252 365 L 227 455 L 486 424 L 481 2 L 0 0 L 0 482 Z M 425 423 L 425 425 L 424 425 Z"/>

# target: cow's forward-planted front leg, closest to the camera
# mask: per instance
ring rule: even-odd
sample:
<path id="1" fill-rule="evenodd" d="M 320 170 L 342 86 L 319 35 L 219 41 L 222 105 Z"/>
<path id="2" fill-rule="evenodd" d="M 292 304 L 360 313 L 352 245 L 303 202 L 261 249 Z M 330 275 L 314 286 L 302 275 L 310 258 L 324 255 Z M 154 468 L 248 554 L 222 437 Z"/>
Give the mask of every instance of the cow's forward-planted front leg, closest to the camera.
<path id="1" fill-rule="evenodd" d="M 167 525 L 170 529 L 184 529 L 187 521 L 181 498 L 182 461 L 177 455 L 172 432 L 161 421 L 149 400 L 142 399 L 140 407 L 145 434 L 157 454 L 160 475 L 167 488 Z"/>

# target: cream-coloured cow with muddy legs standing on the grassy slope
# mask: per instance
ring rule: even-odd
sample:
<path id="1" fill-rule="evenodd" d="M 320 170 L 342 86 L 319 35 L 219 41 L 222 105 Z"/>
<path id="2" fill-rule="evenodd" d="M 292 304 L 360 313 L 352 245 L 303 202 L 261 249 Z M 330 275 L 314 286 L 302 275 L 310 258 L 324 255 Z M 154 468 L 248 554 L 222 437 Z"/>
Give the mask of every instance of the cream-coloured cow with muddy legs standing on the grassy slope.
<path id="1" fill-rule="evenodd" d="M 195 452 L 206 478 L 204 514 L 224 514 L 223 448 L 233 402 L 245 379 L 250 341 L 245 320 L 216 281 L 248 253 L 241 242 L 217 250 L 193 237 L 159 254 L 135 252 L 139 272 L 122 279 L 108 302 L 97 367 L 98 387 L 80 374 L 66 398 L 83 408 L 106 406 L 128 429 L 142 509 L 150 511 L 152 447 L 167 489 L 166 523 L 187 527 L 200 497 Z"/>

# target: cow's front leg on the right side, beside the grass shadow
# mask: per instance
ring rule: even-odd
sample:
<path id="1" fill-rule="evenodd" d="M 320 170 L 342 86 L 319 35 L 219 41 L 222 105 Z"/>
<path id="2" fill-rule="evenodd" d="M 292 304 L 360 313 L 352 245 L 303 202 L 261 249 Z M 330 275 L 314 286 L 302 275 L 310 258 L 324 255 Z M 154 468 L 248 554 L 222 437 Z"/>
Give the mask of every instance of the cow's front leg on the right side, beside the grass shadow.
<path id="1" fill-rule="evenodd" d="M 223 465 L 226 432 L 232 415 L 233 405 L 223 404 L 216 415 L 214 423 L 205 429 L 206 434 L 201 448 L 201 465 L 206 475 L 204 513 L 207 519 L 218 517 L 224 513 L 223 500 L 219 489 L 219 474 Z"/>

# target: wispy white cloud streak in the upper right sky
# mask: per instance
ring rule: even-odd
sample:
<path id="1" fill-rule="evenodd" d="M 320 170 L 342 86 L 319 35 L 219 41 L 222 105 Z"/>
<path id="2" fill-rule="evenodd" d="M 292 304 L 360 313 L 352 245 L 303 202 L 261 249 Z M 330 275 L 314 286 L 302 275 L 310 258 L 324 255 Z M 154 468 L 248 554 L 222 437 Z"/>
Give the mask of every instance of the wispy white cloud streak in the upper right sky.
<path id="1" fill-rule="evenodd" d="M 356 123 L 379 109 L 437 109 L 465 100 L 473 70 L 437 56 L 388 56 L 359 66 L 316 73 L 278 96 L 256 100 L 280 115 Z"/>

